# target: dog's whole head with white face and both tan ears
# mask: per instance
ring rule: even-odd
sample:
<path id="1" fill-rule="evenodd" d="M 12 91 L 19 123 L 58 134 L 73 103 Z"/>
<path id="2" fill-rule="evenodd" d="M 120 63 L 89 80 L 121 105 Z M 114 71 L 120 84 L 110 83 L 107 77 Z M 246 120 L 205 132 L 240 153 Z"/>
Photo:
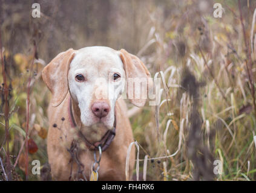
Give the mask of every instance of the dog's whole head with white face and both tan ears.
<path id="1" fill-rule="evenodd" d="M 82 124 L 90 127 L 102 122 L 108 128 L 113 127 L 115 104 L 125 87 L 131 103 L 142 107 L 151 81 L 148 69 L 135 55 L 102 46 L 61 52 L 45 66 L 42 78 L 53 94 L 54 107 L 70 92 Z M 134 87 L 134 80 L 142 87 Z"/>

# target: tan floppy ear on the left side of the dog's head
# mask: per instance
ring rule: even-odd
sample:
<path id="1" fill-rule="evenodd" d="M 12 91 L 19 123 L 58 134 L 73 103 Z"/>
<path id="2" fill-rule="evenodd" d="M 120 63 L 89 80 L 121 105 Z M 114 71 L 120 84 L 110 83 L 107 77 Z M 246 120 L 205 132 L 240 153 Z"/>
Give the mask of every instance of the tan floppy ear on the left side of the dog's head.
<path id="1" fill-rule="evenodd" d="M 53 94 L 53 107 L 59 106 L 68 93 L 68 70 L 74 57 L 74 50 L 68 49 L 58 54 L 42 70 L 42 78 Z"/>

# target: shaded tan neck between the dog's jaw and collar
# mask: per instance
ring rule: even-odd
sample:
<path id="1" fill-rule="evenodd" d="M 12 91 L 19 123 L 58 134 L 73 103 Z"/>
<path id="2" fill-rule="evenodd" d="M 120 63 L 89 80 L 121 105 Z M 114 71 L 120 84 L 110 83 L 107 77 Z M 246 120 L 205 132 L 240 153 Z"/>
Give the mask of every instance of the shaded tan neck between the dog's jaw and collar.
<path id="1" fill-rule="evenodd" d="M 105 127 L 102 123 L 98 123 L 92 125 L 91 127 L 87 127 L 80 121 L 80 109 L 78 104 L 74 101 L 70 101 L 70 116 L 71 116 L 71 125 L 77 127 L 77 130 L 80 130 L 82 134 L 90 141 L 91 143 L 100 141 L 104 134 L 108 131 L 108 128 Z M 72 118 L 73 116 L 73 118 Z"/>

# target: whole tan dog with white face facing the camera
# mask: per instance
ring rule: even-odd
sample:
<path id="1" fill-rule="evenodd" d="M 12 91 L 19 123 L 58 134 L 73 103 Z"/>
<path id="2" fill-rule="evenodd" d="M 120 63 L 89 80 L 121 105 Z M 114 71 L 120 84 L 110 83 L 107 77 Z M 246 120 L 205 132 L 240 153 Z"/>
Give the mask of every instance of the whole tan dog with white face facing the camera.
<path id="1" fill-rule="evenodd" d="M 126 87 L 131 103 L 144 106 L 148 89 L 128 85 L 128 79 L 139 78 L 147 87 L 149 77 L 148 69 L 135 55 L 102 46 L 68 49 L 45 66 L 42 78 L 52 93 L 47 151 L 53 180 L 90 179 L 94 162 L 91 150 L 115 125 L 116 137 L 108 141 L 109 147 L 100 144 L 107 150 L 100 160 L 99 180 L 125 180 L 126 154 L 133 133 L 120 95 Z M 140 91 L 139 98 L 134 97 Z M 133 148 L 130 179 L 134 160 Z"/>

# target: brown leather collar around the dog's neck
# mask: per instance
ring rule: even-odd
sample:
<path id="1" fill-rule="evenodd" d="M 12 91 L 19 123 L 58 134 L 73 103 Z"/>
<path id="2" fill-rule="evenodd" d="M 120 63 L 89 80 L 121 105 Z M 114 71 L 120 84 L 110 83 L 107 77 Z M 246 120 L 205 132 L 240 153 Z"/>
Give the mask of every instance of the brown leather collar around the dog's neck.
<path id="1" fill-rule="evenodd" d="M 76 121 L 74 120 L 74 115 L 73 115 L 73 110 L 72 110 L 72 100 L 70 97 L 70 106 L 69 106 L 69 111 L 70 111 L 70 118 L 71 118 L 71 126 L 72 127 L 76 127 Z M 95 142 L 94 144 L 91 144 L 87 138 L 85 138 L 84 134 L 82 134 L 82 132 L 79 130 L 79 136 L 84 139 L 85 145 L 87 146 L 87 148 L 91 151 L 96 151 L 99 150 L 99 145 L 102 149 L 102 151 L 107 150 L 107 148 L 110 146 L 111 142 L 114 139 L 114 136 L 116 136 L 116 116 L 114 118 L 114 126 L 112 130 L 108 130 L 104 136 L 100 139 L 100 141 Z"/>

